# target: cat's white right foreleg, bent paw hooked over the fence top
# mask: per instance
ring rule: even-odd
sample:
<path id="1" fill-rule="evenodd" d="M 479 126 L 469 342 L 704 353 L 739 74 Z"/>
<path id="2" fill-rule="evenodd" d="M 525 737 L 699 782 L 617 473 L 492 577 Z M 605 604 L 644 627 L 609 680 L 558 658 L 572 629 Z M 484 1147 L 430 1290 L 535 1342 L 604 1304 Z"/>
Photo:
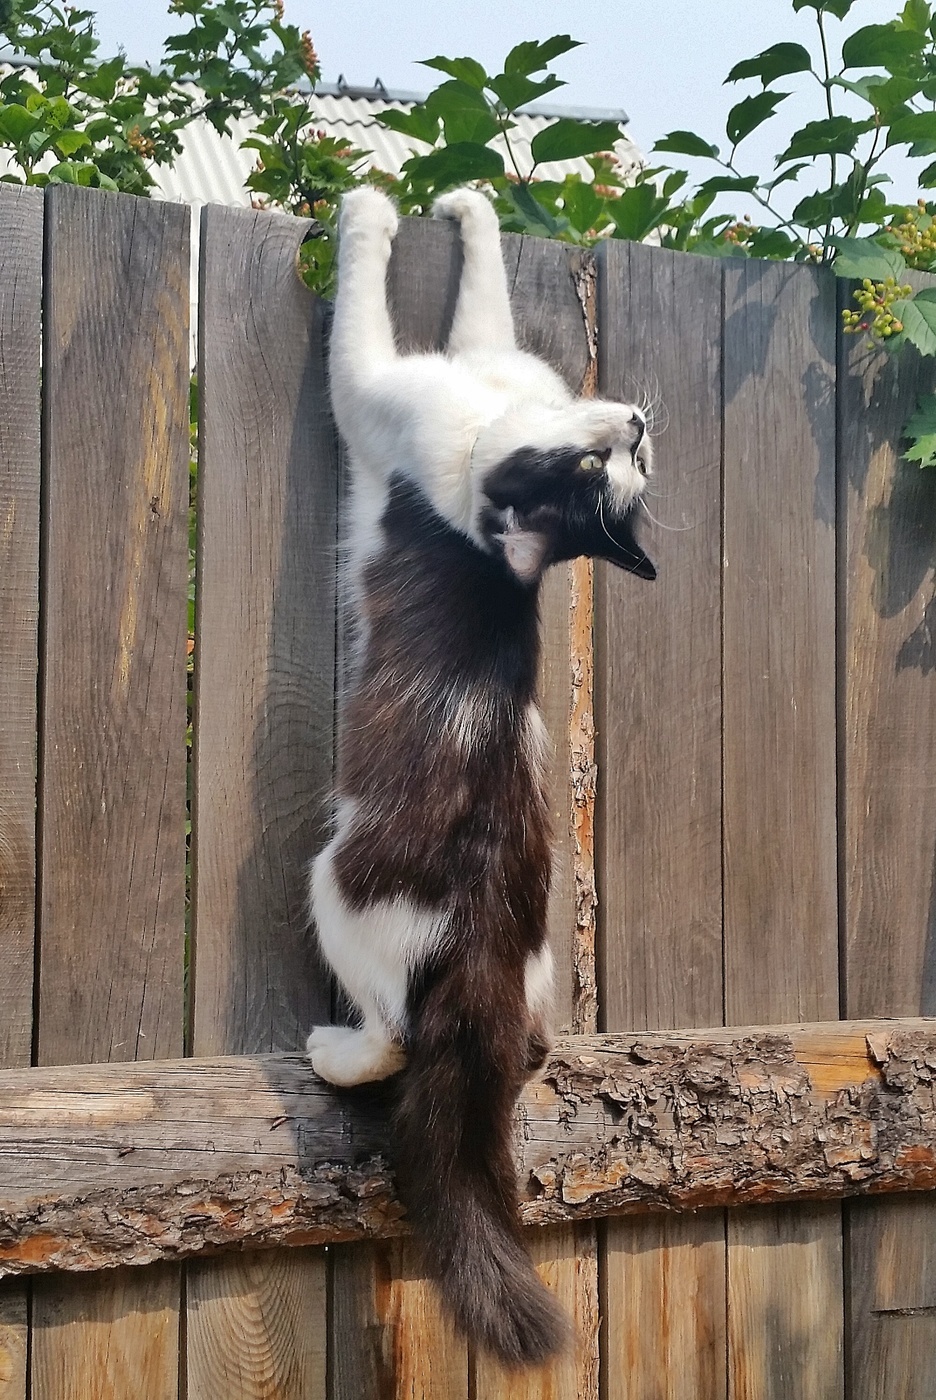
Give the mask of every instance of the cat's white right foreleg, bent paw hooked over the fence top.
<path id="1" fill-rule="evenodd" d="M 449 354 L 515 350 L 501 230 L 491 202 L 477 189 L 453 189 L 437 199 L 432 216 L 455 220 L 462 231 L 465 266 L 449 335 Z"/>

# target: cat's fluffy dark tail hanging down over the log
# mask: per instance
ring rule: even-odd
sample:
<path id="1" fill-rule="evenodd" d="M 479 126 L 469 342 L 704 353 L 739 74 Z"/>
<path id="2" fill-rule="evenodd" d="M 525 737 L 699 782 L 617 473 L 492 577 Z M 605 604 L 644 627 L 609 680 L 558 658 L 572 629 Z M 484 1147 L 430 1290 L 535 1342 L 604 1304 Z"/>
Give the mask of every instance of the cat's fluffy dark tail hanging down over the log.
<path id="1" fill-rule="evenodd" d="M 512 1124 L 529 1018 L 522 987 L 513 998 L 504 976 L 478 972 L 469 984 L 458 966 L 437 970 L 410 997 L 400 1184 L 459 1329 L 508 1365 L 536 1365 L 562 1350 L 569 1327 L 533 1270 L 516 1210 Z"/>

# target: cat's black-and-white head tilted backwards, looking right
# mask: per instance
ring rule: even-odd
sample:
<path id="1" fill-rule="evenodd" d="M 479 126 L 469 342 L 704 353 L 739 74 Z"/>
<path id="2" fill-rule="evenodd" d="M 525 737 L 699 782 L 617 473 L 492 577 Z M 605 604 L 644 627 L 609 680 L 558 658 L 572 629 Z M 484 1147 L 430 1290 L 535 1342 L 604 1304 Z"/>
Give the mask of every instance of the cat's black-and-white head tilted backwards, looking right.
<path id="1" fill-rule="evenodd" d="M 473 454 L 476 533 L 525 584 L 579 554 L 655 578 L 634 529 L 651 463 L 631 405 L 585 399 L 501 419 Z"/>

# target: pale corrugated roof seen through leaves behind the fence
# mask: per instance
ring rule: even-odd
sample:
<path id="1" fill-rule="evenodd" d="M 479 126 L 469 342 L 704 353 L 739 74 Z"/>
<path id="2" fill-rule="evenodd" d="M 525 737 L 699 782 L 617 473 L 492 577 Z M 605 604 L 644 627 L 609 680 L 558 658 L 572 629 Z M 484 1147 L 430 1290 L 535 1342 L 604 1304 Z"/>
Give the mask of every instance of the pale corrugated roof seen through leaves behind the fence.
<path id="1" fill-rule="evenodd" d="M 376 88 L 367 90 L 364 95 L 361 90 L 320 85 L 312 94 L 311 106 L 316 126 L 329 136 L 341 137 L 367 153 L 365 169 L 376 167 L 399 175 L 410 155 L 425 153 L 430 147 L 424 141 L 388 130 L 376 118 L 389 109 L 407 111 L 414 101 L 421 99 L 410 92 L 388 92 L 386 97 L 379 97 Z M 516 127 L 511 132 L 511 147 L 522 175 L 527 175 L 532 169 L 530 141 L 560 115 L 585 118 L 583 112 L 560 112 L 560 109 L 548 112 L 539 109 L 518 115 Z M 593 111 L 588 113 L 592 120 L 597 116 L 599 113 Z M 602 112 L 600 119 L 624 120 L 625 113 Z M 231 136 L 222 137 L 208 122 L 193 122 L 182 133 L 182 153 L 175 165 L 153 172 L 159 195 L 189 204 L 249 206 L 250 192 L 243 188 L 243 182 L 256 164 L 256 151 L 241 150 L 241 143 L 252 134 L 255 126 L 253 122 L 234 122 Z M 506 161 L 508 153 L 502 140 L 498 139 L 492 144 Z M 641 154 L 630 137 L 620 140 L 614 153 L 625 171 L 635 168 L 641 161 Z M 562 179 L 572 171 L 590 179 L 590 167 L 583 160 L 544 164 L 537 168 L 537 175 L 543 179 Z"/>

